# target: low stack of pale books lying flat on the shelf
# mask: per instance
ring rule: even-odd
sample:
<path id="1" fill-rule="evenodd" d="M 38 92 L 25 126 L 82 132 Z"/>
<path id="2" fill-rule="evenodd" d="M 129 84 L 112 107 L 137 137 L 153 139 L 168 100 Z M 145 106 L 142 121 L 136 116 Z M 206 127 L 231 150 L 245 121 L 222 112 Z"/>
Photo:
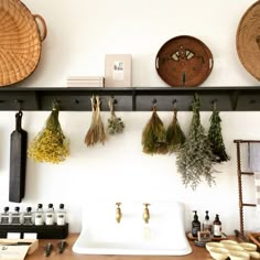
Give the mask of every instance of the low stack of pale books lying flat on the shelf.
<path id="1" fill-rule="evenodd" d="M 72 76 L 67 78 L 67 87 L 104 87 L 104 77 Z"/>

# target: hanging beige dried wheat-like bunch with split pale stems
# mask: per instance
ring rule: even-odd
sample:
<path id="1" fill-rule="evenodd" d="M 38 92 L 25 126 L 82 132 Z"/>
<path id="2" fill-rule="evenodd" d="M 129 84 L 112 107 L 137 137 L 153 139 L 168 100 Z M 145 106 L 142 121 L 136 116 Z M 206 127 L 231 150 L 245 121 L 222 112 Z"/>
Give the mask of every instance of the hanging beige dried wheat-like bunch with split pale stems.
<path id="1" fill-rule="evenodd" d="M 85 137 L 85 143 L 87 144 L 87 147 L 94 145 L 97 142 L 101 142 L 104 144 L 106 141 L 106 132 L 100 115 L 100 107 L 101 107 L 100 98 L 99 96 L 93 96 L 90 100 L 93 108 L 93 119 L 91 119 L 91 124 Z"/>

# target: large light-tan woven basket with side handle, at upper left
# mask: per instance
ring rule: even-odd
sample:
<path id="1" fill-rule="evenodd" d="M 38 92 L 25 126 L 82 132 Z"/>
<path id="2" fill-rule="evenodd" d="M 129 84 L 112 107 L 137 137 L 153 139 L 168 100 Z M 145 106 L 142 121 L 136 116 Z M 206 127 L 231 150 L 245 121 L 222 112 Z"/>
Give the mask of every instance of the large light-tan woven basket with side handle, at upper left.
<path id="1" fill-rule="evenodd" d="M 35 71 L 45 37 L 41 15 L 33 15 L 20 0 L 0 0 L 0 87 L 21 82 Z"/>

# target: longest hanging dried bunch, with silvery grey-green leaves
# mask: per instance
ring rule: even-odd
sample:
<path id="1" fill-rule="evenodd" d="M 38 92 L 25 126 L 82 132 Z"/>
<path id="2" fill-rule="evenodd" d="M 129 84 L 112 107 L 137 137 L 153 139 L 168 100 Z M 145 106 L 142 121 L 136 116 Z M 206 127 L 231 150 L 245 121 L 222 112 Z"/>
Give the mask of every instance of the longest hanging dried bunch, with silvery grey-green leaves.
<path id="1" fill-rule="evenodd" d="M 215 183 L 213 176 L 214 155 L 209 140 L 201 123 L 199 108 L 201 99 L 195 95 L 188 136 L 176 158 L 177 170 L 182 175 L 183 184 L 185 186 L 191 185 L 193 189 L 196 189 L 202 182 L 202 177 L 207 181 L 209 186 Z"/>

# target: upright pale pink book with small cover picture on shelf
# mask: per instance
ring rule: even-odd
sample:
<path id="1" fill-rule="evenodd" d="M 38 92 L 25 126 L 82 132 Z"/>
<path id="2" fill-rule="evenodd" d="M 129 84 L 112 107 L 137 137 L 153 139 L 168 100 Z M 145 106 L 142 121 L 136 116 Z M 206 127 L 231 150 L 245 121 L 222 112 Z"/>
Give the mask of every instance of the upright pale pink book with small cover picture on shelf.
<path id="1" fill-rule="evenodd" d="M 131 54 L 106 54 L 105 87 L 131 87 Z"/>

